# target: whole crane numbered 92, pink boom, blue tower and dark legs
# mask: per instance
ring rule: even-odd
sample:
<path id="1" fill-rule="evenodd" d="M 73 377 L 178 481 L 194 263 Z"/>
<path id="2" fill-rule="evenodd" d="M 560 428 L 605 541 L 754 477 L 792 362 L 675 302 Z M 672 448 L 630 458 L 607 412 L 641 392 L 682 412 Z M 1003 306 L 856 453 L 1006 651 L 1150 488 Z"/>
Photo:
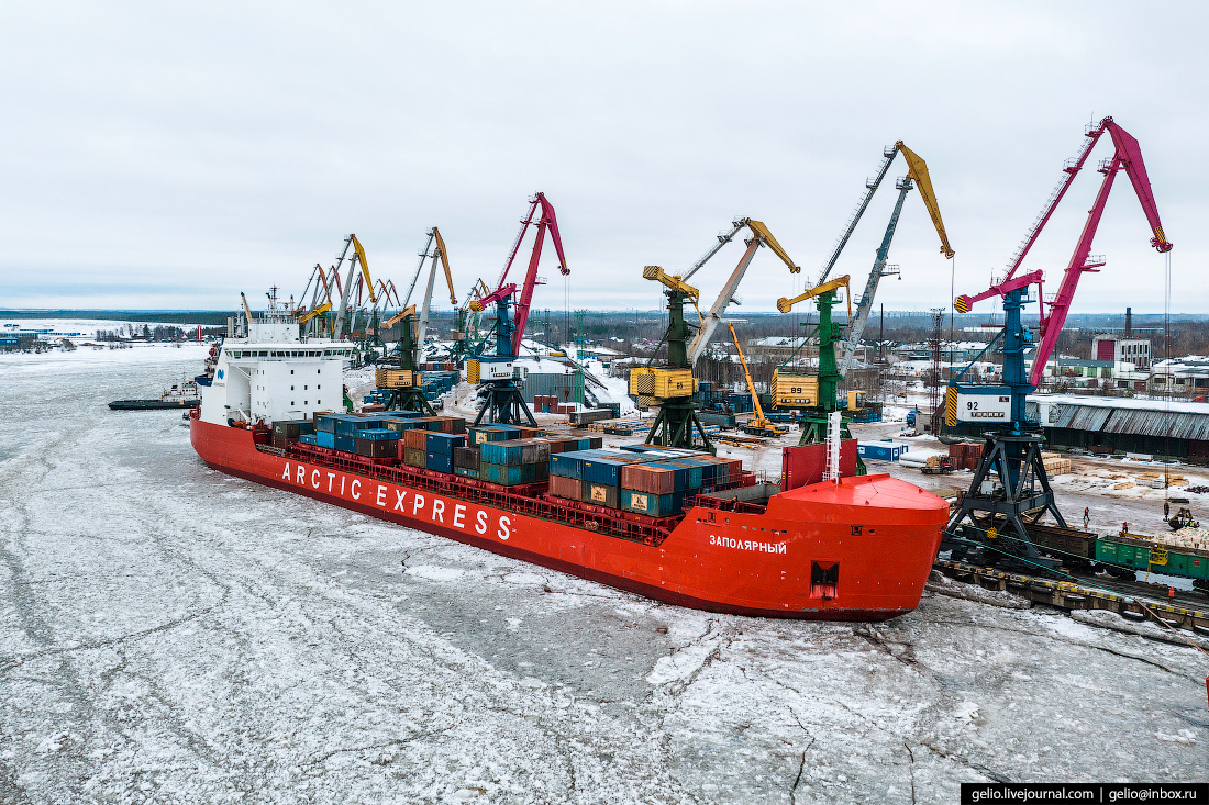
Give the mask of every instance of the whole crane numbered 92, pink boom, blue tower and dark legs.
<path id="1" fill-rule="evenodd" d="M 1099 271 L 1105 265 L 1104 257 L 1093 256 L 1091 250 L 1105 203 L 1109 199 L 1109 192 L 1112 190 L 1112 183 L 1118 172 L 1124 170 L 1133 183 L 1134 192 L 1141 203 L 1153 236 L 1150 239 L 1151 245 L 1159 253 L 1172 250 L 1172 243 L 1163 233 L 1158 207 L 1155 204 L 1155 196 L 1138 140 L 1115 123 L 1111 117 L 1105 117 L 1098 124 L 1088 126 L 1083 134 L 1087 141 L 1076 157 L 1066 161 L 1063 167 L 1066 175 L 1054 187 L 1041 214 L 1029 227 L 1028 236 L 1012 255 L 1002 282 L 993 284 L 980 294 L 961 295 L 954 300 L 954 308 L 960 313 L 970 311 L 976 302 L 991 296 L 999 296 L 1003 300 L 1003 330 L 987 347 L 990 349 L 995 343 L 1002 342 L 1003 376 L 1002 382 L 999 383 L 961 382 L 961 378 L 970 371 L 970 366 L 973 366 L 978 358 L 982 358 L 978 355 L 970 366 L 949 382 L 949 387 L 945 389 L 944 417 L 947 425 L 994 427 L 993 430 L 984 433 L 985 441 L 978 469 L 974 470 L 970 491 L 962 496 L 960 506 L 949 520 L 945 528 L 945 540 L 947 544 L 958 545 L 965 550 L 965 543 L 958 542 L 961 533 L 973 535 L 977 542 L 984 545 L 991 543 L 991 539 L 988 538 L 994 538 L 994 544 L 997 545 L 996 551 L 1012 557 L 1028 557 L 1026 561 L 1031 564 L 1046 563 L 1047 560 L 1037 556 L 1037 549 L 1025 528 L 1026 521 L 1036 522 L 1046 512 L 1052 514 L 1058 525 L 1064 528 L 1066 521 L 1058 511 L 1053 490 L 1041 461 L 1041 445 L 1045 436 L 1037 423 L 1026 419 L 1025 399 L 1036 390 L 1041 381 L 1046 361 L 1054 351 L 1058 335 L 1070 311 L 1080 277 L 1086 272 Z M 1066 265 L 1058 293 L 1052 301 L 1047 301 L 1042 293 L 1043 272 L 1032 271 L 1017 274 L 1017 271 L 1075 176 L 1087 162 L 1092 149 L 1104 134 L 1107 134 L 1112 140 L 1112 156 L 1099 163 L 1098 169 L 1104 174 L 1104 179 L 1100 183 L 1095 203 L 1088 210 L 1087 222 L 1083 225 L 1075 251 Z M 1037 286 L 1036 301 L 1040 312 L 1041 338 L 1032 355 L 1032 369 L 1026 372 L 1024 353 L 1032 342 L 1032 336 L 1020 322 L 1020 309 L 1026 302 L 1032 301 L 1026 296 L 1034 284 Z M 962 527 L 959 531 L 966 520 L 970 520 L 974 528 Z"/>

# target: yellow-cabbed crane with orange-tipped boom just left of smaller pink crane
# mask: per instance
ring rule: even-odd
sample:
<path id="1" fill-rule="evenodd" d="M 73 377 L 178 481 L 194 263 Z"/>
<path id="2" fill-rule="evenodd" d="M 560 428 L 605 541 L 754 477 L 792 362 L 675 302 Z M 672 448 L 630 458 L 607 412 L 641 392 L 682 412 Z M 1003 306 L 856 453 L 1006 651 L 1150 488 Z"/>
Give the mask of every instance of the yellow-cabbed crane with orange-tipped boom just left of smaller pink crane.
<path id="1" fill-rule="evenodd" d="M 398 369 L 392 367 L 377 375 L 377 386 L 388 389 L 384 395 L 387 411 L 417 411 L 432 416 L 433 406 L 421 390 L 423 376 L 420 372 L 420 357 L 424 348 L 424 334 L 428 330 L 429 312 L 432 309 L 433 285 L 436 280 L 436 265 L 440 262 L 445 272 L 445 282 L 450 289 L 450 302 L 457 305 L 457 295 L 453 293 L 453 276 L 450 272 L 449 253 L 445 249 L 445 239 L 435 226 L 426 233 L 428 241 L 420 251 L 420 263 L 416 266 L 416 274 L 407 288 L 407 296 L 399 302 L 403 309 L 394 317 L 382 323 L 383 328 L 399 325 L 399 363 Z M 435 244 L 435 248 L 434 248 Z M 424 270 L 424 262 L 432 260 L 428 271 L 428 282 L 424 286 L 423 296 L 420 301 L 420 315 L 416 315 L 416 305 L 407 305 L 416 289 L 416 282 Z M 398 299 L 398 296 L 397 296 Z"/>

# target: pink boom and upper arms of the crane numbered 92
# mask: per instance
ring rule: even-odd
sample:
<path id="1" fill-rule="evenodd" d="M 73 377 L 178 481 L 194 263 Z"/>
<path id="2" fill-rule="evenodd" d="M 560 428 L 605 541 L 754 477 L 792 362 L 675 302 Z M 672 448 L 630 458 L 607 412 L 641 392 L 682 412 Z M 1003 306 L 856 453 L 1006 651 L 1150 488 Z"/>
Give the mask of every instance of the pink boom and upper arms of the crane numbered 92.
<path id="1" fill-rule="evenodd" d="M 1029 249 L 1032 248 L 1037 236 L 1041 234 L 1041 230 L 1045 228 L 1046 222 L 1053 215 L 1058 203 L 1066 195 L 1066 190 L 1075 180 L 1075 176 L 1082 169 L 1092 149 L 1095 147 L 1095 144 L 1105 132 L 1112 139 L 1115 151 L 1111 157 L 1100 162 L 1099 172 L 1104 174 L 1100 192 L 1095 196 L 1095 203 L 1092 205 L 1092 209 L 1088 210 L 1087 222 L 1083 225 L 1083 232 L 1078 238 L 1078 244 L 1075 247 L 1075 253 L 1066 265 L 1066 272 L 1058 285 L 1058 293 L 1054 295 L 1052 302 L 1046 302 L 1042 294 L 1042 272 L 1034 271 L 1019 277 L 1016 276 L 1016 272 L 1024 261 L 1025 255 L 1029 254 Z M 1158 207 L 1155 204 L 1155 195 L 1150 187 L 1150 178 L 1146 175 L 1146 163 L 1141 158 L 1141 149 L 1138 146 L 1138 140 L 1117 126 L 1111 117 L 1105 117 L 1098 126 L 1089 126 L 1084 135 L 1087 137 L 1087 143 L 1083 145 L 1083 150 L 1077 157 L 1066 161 L 1066 164 L 1063 167 L 1066 174 L 1065 178 L 1049 195 L 1045 209 L 1042 209 L 1037 220 L 1034 221 L 1028 237 L 1020 242 L 1019 248 L 1008 262 L 1008 271 L 1003 282 L 974 296 L 959 296 L 954 302 L 954 307 L 959 313 L 966 313 L 974 302 L 990 296 L 1006 297 L 1013 290 L 1019 290 L 1036 283 L 1037 305 L 1041 318 L 1041 340 L 1032 358 L 1032 370 L 1029 373 L 1029 382 L 1034 387 L 1040 383 L 1046 363 L 1049 360 L 1049 355 L 1058 343 L 1058 334 L 1062 332 L 1063 324 L 1066 322 L 1066 313 L 1070 311 L 1070 303 L 1075 296 L 1078 278 L 1084 272 L 1097 271 L 1104 265 L 1103 257 L 1091 256 L 1092 241 L 1095 238 L 1095 230 L 1100 225 L 1100 216 L 1104 214 L 1104 205 L 1109 201 L 1109 192 L 1112 190 L 1112 181 L 1116 179 L 1118 170 L 1123 169 L 1128 174 L 1129 181 L 1133 183 L 1134 192 L 1138 195 L 1138 201 L 1141 203 L 1143 212 L 1146 214 L 1146 220 L 1153 233 L 1153 237 L 1150 239 L 1151 245 L 1159 253 L 1172 250 L 1170 242 L 1163 234 L 1163 224 L 1158 218 Z"/>

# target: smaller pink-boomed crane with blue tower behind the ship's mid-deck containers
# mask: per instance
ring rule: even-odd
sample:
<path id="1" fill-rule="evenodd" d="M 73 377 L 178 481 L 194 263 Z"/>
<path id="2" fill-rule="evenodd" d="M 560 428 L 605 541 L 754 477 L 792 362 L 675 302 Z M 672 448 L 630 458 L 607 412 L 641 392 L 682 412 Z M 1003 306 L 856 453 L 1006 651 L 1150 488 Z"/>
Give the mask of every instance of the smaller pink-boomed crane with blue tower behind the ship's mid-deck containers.
<path id="1" fill-rule="evenodd" d="M 486 309 L 488 305 L 496 306 L 496 354 L 474 358 L 467 363 L 467 380 L 480 384 L 479 395 L 482 398 L 482 406 L 474 418 L 475 424 L 482 422 L 484 417 L 487 422 L 501 424 L 519 423 L 523 418 L 531 427 L 537 427 L 537 421 L 528 405 L 525 404 L 525 398 L 513 377 L 513 363 L 520 355 L 525 324 L 528 322 L 530 307 L 533 301 L 533 289 L 545 282 L 537 276 L 537 268 L 548 231 L 559 255 L 559 271 L 567 276 L 571 270 L 567 268 L 567 259 L 562 253 L 562 236 L 559 233 L 559 220 L 554 214 L 554 205 L 542 192 L 534 193 L 528 201 L 528 214 L 521 219 L 521 228 L 516 233 L 516 239 L 513 241 L 513 248 L 508 254 L 504 270 L 499 274 L 499 282 L 496 283 L 496 289 L 482 299 L 470 302 L 470 309 L 476 313 Z M 511 270 L 521 242 L 531 226 L 536 227 L 533 250 L 530 254 L 525 280 L 517 289 L 515 283 L 508 282 L 508 272 Z M 515 312 L 511 309 L 514 307 Z"/>

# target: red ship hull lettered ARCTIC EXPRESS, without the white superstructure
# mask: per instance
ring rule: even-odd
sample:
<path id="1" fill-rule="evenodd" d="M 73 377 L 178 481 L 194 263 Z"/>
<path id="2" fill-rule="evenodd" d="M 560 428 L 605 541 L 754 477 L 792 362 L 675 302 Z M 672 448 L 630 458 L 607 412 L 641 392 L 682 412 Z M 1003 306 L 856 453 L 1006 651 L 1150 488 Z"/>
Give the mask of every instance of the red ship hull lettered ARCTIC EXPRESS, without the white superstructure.
<path id="1" fill-rule="evenodd" d="M 213 469 L 666 603 L 771 618 L 879 621 L 919 606 L 948 506 L 890 476 L 774 496 L 764 514 L 694 506 L 659 544 L 262 452 L 190 421 Z"/>

